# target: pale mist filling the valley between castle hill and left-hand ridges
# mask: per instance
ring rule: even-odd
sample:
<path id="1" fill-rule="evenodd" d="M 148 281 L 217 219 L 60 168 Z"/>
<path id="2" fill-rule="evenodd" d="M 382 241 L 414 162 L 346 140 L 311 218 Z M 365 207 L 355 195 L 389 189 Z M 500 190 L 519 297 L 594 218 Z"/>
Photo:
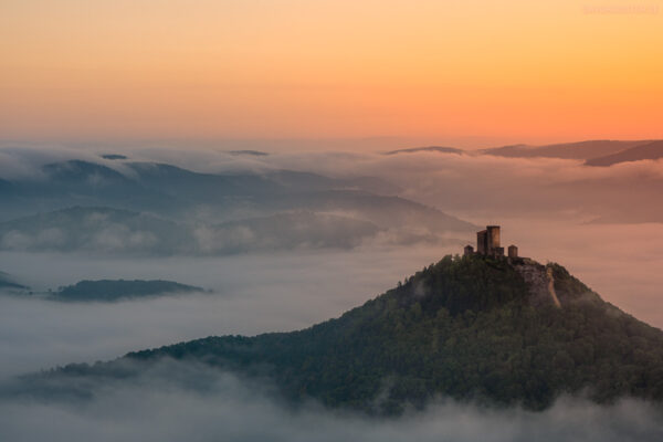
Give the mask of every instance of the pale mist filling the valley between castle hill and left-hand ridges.
<path id="1" fill-rule="evenodd" d="M 308 327 L 391 288 L 441 253 L 383 248 L 154 260 L 0 253 L 0 269 L 35 291 L 102 278 L 164 278 L 213 291 L 110 304 L 0 296 L 0 377 L 210 335 Z"/>

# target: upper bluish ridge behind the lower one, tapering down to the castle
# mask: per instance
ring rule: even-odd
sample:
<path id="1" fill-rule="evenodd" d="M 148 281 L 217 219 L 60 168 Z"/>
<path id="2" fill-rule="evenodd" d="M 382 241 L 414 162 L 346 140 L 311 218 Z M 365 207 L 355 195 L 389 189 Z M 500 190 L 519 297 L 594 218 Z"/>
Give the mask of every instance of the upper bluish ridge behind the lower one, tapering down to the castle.
<path id="1" fill-rule="evenodd" d="M 75 206 L 151 212 L 175 220 L 211 212 L 218 221 L 269 215 L 274 210 L 316 210 L 314 206 L 360 212 L 365 202 L 375 207 L 377 201 L 400 212 L 399 217 L 406 211 L 430 212 L 413 201 L 388 198 L 400 189 L 373 177 L 341 179 L 292 170 L 218 175 L 157 162 L 123 162 L 116 170 L 83 160 L 49 164 L 43 172 L 45 179 L 0 181 L 0 221 Z M 362 194 L 360 206 L 358 194 Z M 455 219 L 455 225 L 463 223 Z M 446 228 L 443 221 L 438 227 Z"/>

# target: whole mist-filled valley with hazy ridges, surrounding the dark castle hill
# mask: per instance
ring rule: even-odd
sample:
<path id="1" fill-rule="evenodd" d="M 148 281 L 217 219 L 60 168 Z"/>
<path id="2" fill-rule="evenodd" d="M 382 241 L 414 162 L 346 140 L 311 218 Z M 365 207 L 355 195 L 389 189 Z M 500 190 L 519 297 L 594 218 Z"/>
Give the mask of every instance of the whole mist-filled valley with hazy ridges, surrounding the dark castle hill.
<path id="1" fill-rule="evenodd" d="M 562 263 L 604 299 L 663 326 L 663 212 L 652 203 L 663 169 L 655 160 L 592 168 L 478 152 L 113 152 L 127 159 L 52 146 L 0 150 L 0 271 L 24 286 L 0 296 L 4 383 L 206 336 L 305 328 L 461 253 L 477 225 L 493 223 L 523 255 Z M 110 304 L 28 294 L 106 278 L 206 292 Z M 269 381 L 236 373 L 175 362 L 155 370 L 137 386 L 101 386 L 86 402 L 0 399 L 0 435 L 177 440 L 199 429 L 199 440 L 231 431 L 236 440 L 501 441 L 655 440 L 662 431 L 659 411 L 640 401 L 561 398 L 536 413 L 440 398 L 423 412 L 376 421 L 315 401 L 292 410 Z M 182 377 L 203 381 L 171 382 Z M 35 415 L 44 424 L 29 428 Z"/>

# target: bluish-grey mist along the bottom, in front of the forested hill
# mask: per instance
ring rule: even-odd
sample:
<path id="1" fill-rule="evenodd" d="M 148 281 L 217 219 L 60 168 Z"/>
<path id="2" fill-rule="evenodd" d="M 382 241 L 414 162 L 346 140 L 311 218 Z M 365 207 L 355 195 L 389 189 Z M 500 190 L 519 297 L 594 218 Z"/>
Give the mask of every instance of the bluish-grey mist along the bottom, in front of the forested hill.
<path id="1" fill-rule="evenodd" d="M 75 380 L 73 380 L 75 382 Z M 71 389 L 63 381 L 62 389 Z M 7 385 L 4 385 L 7 388 Z M 439 400 L 424 411 L 369 418 L 315 402 L 293 408 L 269 383 L 164 361 L 87 399 L 0 397 L 0 439 L 94 441 L 656 441 L 662 410 L 622 400 L 561 398 L 544 412 Z"/>

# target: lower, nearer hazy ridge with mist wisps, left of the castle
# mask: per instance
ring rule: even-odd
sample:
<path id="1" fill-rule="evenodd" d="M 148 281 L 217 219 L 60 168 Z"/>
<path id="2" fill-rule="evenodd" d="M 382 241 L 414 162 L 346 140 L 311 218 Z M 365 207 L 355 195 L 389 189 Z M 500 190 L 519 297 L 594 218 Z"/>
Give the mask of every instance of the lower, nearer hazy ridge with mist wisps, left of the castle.
<path id="1" fill-rule="evenodd" d="M 429 227 L 431 232 L 439 225 L 456 231 L 472 228 L 434 209 L 396 197 L 343 192 L 340 201 L 335 193 L 302 198 L 303 201 L 312 198 L 306 206 L 314 210 L 288 211 L 287 206 L 280 206 L 275 199 L 270 214 L 209 224 L 107 207 L 73 207 L 0 222 L 0 250 L 143 256 L 348 250 L 388 232 L 389 241 L 394 243 L 443 240 L 434 233 L 408 232 L 408 225 L 414 221 Z M 358 207 L 360 211 L 356 210 Z M 420 219 L 411 221 L 410 212 L 418 213 Z"/>

